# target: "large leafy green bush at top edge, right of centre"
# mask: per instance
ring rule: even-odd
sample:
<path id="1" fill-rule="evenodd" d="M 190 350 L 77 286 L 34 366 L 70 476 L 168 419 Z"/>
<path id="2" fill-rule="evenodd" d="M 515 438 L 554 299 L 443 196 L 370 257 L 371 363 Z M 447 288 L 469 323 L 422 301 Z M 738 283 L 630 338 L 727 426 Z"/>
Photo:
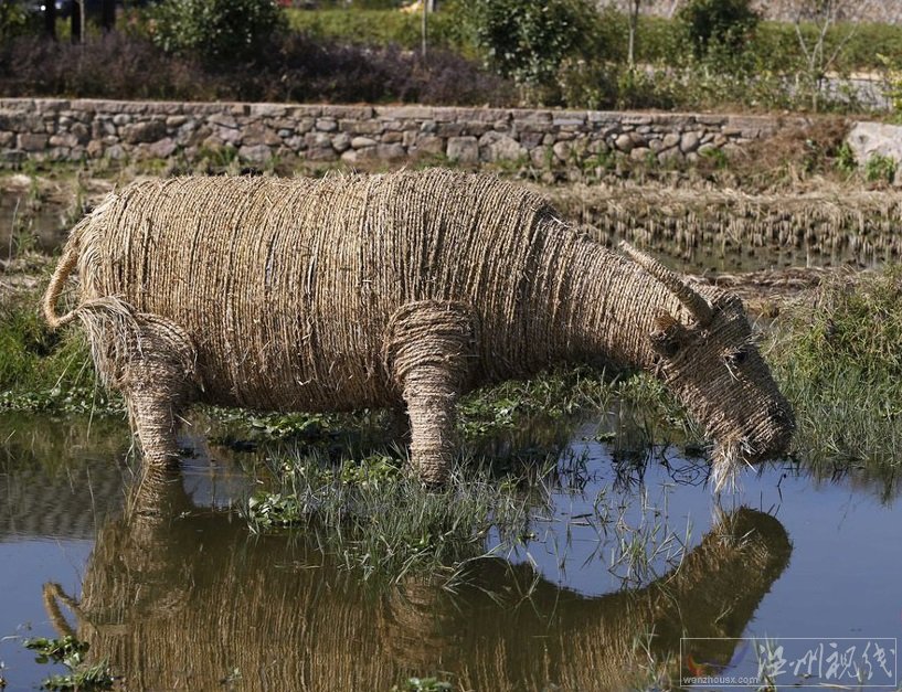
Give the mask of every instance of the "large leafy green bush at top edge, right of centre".
<path id="1" fill-rule="evenodd" d="M 530 87 L 553 83 L 565 57 L 587 52 L 598 21 L 588 0 L 474 0 L 468 8 L 486 64 Z"/>

